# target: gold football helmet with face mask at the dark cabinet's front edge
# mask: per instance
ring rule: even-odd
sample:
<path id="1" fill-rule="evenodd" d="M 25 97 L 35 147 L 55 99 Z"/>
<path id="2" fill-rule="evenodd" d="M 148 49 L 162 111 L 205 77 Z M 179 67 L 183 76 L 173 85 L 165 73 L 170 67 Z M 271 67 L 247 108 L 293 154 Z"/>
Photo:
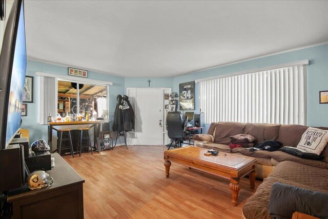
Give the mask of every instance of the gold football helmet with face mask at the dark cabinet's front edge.
<path id="1" fill-rule="evenodd" d="M 31 190 L 42 189 L 47 186 L 52 186 L 53 178 L 43 170 L 36 170 L 27 177 L 27 185 Z"/>

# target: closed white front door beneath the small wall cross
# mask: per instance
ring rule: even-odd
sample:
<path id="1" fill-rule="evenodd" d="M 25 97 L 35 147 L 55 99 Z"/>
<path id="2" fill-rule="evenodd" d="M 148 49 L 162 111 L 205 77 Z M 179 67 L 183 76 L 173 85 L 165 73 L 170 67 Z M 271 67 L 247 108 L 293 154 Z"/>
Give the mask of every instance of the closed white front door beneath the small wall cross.
<path id="1" fill-rule="evenodd" d="M 135 131 L 138 145 L 162 145 L 163 90 L 136 89 Z M 161 121 L 163 126 L 163 122 Z"/>

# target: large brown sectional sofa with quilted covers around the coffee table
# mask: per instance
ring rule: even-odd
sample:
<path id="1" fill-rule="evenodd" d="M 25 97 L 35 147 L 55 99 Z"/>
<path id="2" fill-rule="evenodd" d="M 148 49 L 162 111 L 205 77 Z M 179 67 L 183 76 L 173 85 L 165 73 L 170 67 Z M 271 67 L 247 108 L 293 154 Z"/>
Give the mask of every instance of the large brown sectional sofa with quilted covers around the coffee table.
<path id="1" fill-rule="evenodd" d="M 273 183 L 279 182 L 313 191 L 328 193 L 328 145 L 322 151 L 324 158 L 314 161 L 282 151 L 249 152 L 244 148 L 230 149 L 230 136 L 250 134 L 258 143 L 267 140 L 296 147 L 308 126 L 218 122 L 212 123 L 207 134 L 194 135 L 195 146 L 229 153 L 252 156 L 257 159 L 258 177 L 264 178 L 256 193 L 243 206 L 245 218 L 271 218 L 269 198 Z M 326 127 L 318 127 L 328 129 Z M 206 140 L 206 141 L 204 141 Z"/>

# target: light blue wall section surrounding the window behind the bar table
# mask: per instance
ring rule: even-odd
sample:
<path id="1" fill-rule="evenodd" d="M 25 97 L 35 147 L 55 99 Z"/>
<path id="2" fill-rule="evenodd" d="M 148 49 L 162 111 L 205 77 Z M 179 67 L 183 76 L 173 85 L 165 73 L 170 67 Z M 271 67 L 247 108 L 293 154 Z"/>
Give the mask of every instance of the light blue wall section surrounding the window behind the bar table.
<path id="1" fill-rule="evenodd" d="M 21 128 L 29 129 L 31 143 L 37 139 L 47 140 L 47 134 L 48 134 L 48 126 L 38 124 L 38 116 L 39 116 L 38 96 L 40 91 L 39 91 L 38 79 L 37 77 L 35 77 L 36 72 L 44 72 L 44 73 L 51 73 L 51 74 L 58 74 L 58 75 L 65 75 L 65 76 L 68 75 L 67 67 L 50 65 L 42 62 L 28 61 L 26 74 L 29 76 L 34 76 L 34 87 L 33 87 L 34 103 L 27 104 L 27 116 L 22 116 L 23 123 Z M 77 79 L 76 77 L 73 76 L 72 78 Z M 109 86 L 109 119 L 113 121 L 115 106 L 116 106 L 116 96 L 118 94 L 125 93 L 124 77 L 117 77 L 108 74 L 88 71 L 88 78 L 95 79 L 98 81 L 106 81 L 106 82 L 109 81 L 113 83 L 112 86 Z"/>

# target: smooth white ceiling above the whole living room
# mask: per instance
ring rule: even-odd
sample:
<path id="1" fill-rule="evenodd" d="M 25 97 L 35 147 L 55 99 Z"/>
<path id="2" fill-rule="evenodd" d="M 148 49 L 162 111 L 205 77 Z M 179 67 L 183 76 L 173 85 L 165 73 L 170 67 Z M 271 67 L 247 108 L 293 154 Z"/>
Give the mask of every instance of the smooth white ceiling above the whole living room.
<path id="1" fill-rule="evenodd" d="M 125 77 L 186 74 L 328 42 L 328 1 L 29 1 L 29 59 Z"/>

